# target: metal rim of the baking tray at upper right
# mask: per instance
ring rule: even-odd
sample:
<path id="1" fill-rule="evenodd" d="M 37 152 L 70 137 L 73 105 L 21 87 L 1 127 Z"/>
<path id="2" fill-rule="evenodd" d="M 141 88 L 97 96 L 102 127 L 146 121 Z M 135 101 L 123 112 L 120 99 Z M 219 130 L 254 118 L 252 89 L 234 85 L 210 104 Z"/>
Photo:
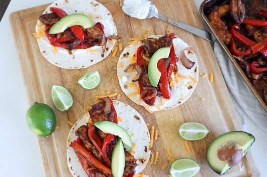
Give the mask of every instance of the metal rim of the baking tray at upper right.
<path id="1" fill-rule="evenodd" d="M 238 65 L 236 60 L 232 57 L 231 52 L 228 50 L 227 46 L 223 43 L 223 41 L 221 40 L 221 38 L 219 37 L 219 35 L 217 34 L 217 32 L 215 31 L 215 29 L 213 28 L 213 26 L 211 25 L 211 23 L 210 23 L 210 21 L 208 19 L 208 15 L 209 15 L 209 12 L 210 12 L 211 8 L 213 8 L 216 5 L 221 5 L 221 4 L 225 4 L 225 3 L 229 3 L 229 0 L 204 0 L 200 5 L 200 9 L 199 9 L 200 15 L 204 19 L 204 21 L 206 22 L 207 26 L 210 28 L 210 30 L 212 31 L 212 33 L 214 34 L 214 36 L 216 37 L 218 42 L 220 43 L 221 47 L 227 53 L 227 55 L 230 58 L 230 60 L 232 61 L 233 65 L 236 67 L 238 72 L 241 74 L 242 78 L 244 79 L 244 81 L 246 82 L 248 87 L 251 89 L 251 91 L 256 96 L 256 98 L 258 99 L 258 101 L 260 102 L 260 104 L 262 105 L 264 110 L 267 112 L 267 105 L 264 103 L 264 101 L 261 98 L 260 94 L 257 92 L 257 90 L 255 89 L 254 85 L 252 85 L 251 81 L 245 75 L 244 71 Z"/>

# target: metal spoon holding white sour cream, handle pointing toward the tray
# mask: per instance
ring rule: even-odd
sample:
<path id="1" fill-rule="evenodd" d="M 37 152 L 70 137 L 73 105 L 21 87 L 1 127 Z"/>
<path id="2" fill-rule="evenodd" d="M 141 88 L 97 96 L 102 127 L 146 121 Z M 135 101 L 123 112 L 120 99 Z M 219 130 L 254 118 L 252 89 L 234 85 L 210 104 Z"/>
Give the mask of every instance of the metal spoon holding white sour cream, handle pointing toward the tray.
<path id="1" fill-rule="evenodd" d="M 178 26 L 186 31 L 189 31 L 197 36 L 200 36 L 210 42 L 214 42 L 215 40 L 215 37 L 211 32 L 175 21 L 161 14 L 158 14 L 156 6 L 149 0 L 124 0 L 122 9 L 129 16 L 138 19 L 151 18 L 154 16 L 156 18 L 167 21 L 175 26 Z"/>

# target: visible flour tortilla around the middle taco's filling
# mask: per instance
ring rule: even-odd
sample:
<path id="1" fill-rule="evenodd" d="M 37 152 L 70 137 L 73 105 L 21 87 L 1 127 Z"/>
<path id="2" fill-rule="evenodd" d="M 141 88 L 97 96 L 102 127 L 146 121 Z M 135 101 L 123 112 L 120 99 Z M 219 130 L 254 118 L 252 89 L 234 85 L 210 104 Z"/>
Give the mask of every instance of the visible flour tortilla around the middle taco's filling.
<path id="1" fill-rule="evenodd" d="M 151 35 L 149 37 L 159 38 L 161 36 L 162 35 Z M 134 71 L 134 72 L 126 73 L 124 72 L 124 70 L 130 64 L 129 60 L 131 59 L 133 54 L 137 51 L 140 45 L 143 45 L 141 41 L 134 43 L 134 44 L 130 44 L 127 47 L 125 47 L 125 49 L 121 53 L 120 58 L 118 60 L 117 74 L 118 74 L 118 79 L 119 79 L 121 89 L 125 93 L 125 95 L 130 95 L 130 94 L 137 92 L 136 88 L 129 86 L 129 83 L 132 81 L 133 77 L 137 74 L 137 72 Z M 179 58 L 180 58 L 181 50 L 190 47 L 187 43 L 185 43 L 182 39 L 178 37 L 173 38 L 173 45 L 174 45 L 175 54 Z M 181 59 L 179 59 L 178 62 L 176 63 L 177 68 L 178 68 L 178 73 L 186 77 L 191 76 L 196 81 L 198 81 L 198 63 L 197 63 L 196 55 L 195 54 L 191 55 L 189 59 L 195 62 L 194 66 L 191 69 L 187 69 L 182 64 Z M 122 67 L 121 67 L 121 64 L 122 64 Z M 171 77 L 175 80 L 175 76 L 173 73 Z M 133 84 L 139 88 L 138 82 L 133 82 Z M 158 96 L 156 97 L 156 101 L 153 106 L 147 105 L 142 99 L 140 100 L 138 104 L 141 106 L 145 105 L 144 106 L 145 109 L 151 112 L 175 108 L 183 104 L 192 95 L 197 85 L 197 82 L 194 82 L 192 79 L 179 78 L 179 82 L 177 83 L 174 81 L 174 84 L 175 84 L 175 87 L 172 84 L 170 85 L 171 98 L 169 100 L 164 99 L 164 105 L 161 105 L 161 98 L 163 97 L 158 97 Z M 139 99 L 139 94 L 131 96 L 129 98 L 133 102 L 137 103 Z"/>

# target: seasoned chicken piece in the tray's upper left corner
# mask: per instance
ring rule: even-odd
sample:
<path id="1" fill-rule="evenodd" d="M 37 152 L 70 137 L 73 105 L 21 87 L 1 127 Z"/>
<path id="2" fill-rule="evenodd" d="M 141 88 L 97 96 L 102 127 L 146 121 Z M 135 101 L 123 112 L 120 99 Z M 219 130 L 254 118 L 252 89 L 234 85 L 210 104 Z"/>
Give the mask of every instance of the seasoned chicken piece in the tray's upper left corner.
<path id="1" fill-rule="evenodd" d="M 227 25 L 221 20 L 221 16 L 224 16 L 230 12 L 230 6 L 224 4 L 221 6 L 216 6 L 209 15 L 209 21 L 222 39 L 222 41 L 227 45 L 230 42 L 231 34 L 227 30 Z"/>

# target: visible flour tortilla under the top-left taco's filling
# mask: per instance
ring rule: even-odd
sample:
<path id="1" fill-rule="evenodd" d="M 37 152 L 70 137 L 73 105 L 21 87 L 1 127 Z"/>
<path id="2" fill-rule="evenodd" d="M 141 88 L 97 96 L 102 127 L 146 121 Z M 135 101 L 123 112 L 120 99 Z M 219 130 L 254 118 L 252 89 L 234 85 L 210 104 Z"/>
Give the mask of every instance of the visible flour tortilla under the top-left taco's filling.
<path id="1" fill-rule="evenodd" d="M 50 4 L 44 13 L 50 13 L 50 7 L 62 8 L 68 14 L 83 12 L 88 16 L 92 14 L 94 23 L 101 22 L 104 25 L 104 33 L 106 37 L 109 35 L 117 35 L 116 25 L 111 13 L 104 5 L 95 0 L 57 0 Z M 38 32 L 38 29 L 39 27 L 36 26 L 36 32 Z M 112 41 L 114 44 L 115 39 Z M 71 55 L 66 49 L 57 47 L 58 54 L 56 54 L 46 36 L 42 36 L 41 41 L 38 41 L 37 39 L 37 42 L 41 53 L 50 63 L 66 69 L 86 68 L 98 63 L 106 58 L 113 48 L 113 45 L 110 42 L 107 42 L 104 57 L 101 56 L 102 46 L 93 46 L 90 49 L 97 50 L 97 52 L 91 51 L 89 53 L 87 53 L 87 49 L 74 49 L 72 50 L 73 54 Z"/>

